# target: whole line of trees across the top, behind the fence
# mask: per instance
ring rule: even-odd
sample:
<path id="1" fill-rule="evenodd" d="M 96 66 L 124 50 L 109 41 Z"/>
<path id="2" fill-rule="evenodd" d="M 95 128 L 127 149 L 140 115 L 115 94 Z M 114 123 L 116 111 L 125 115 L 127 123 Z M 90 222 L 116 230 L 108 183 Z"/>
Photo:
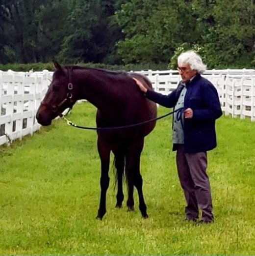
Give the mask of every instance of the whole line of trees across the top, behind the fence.
<path id="1" fill-rule="evenodd" d="M 255 67 L 255 0 L 0 0 L 0 63 Z"/>

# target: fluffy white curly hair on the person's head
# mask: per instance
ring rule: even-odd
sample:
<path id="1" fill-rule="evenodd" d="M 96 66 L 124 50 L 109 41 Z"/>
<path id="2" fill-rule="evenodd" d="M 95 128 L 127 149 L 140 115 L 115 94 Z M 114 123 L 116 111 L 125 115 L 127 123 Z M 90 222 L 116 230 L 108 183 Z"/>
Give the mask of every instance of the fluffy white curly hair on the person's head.
<path id="1" fill-rule="evenodd" d="M 206 65 L 202 58 L 194 51 L 187 51 L 179 55 L 178 66 L 181 64 L 189 64 L 192 70 L 196 70 L 199 74 L 203 74 L 206 70 Z"/>

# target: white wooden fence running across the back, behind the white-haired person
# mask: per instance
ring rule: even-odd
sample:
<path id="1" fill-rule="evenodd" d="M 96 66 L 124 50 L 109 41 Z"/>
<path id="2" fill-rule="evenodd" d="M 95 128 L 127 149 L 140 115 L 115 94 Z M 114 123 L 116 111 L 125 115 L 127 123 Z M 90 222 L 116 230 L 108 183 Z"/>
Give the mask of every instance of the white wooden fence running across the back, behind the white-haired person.
<path id="1" fill-rule="evenodd" d="M 141 71 L 148 76 L 155 91 L 169 94 L 179 81 L 178 71 Z M 255 121 L 255 70 L 207 70 L 203 77 L 217 89 L 222 111 L 232 117 L 250 117 Z"/>

